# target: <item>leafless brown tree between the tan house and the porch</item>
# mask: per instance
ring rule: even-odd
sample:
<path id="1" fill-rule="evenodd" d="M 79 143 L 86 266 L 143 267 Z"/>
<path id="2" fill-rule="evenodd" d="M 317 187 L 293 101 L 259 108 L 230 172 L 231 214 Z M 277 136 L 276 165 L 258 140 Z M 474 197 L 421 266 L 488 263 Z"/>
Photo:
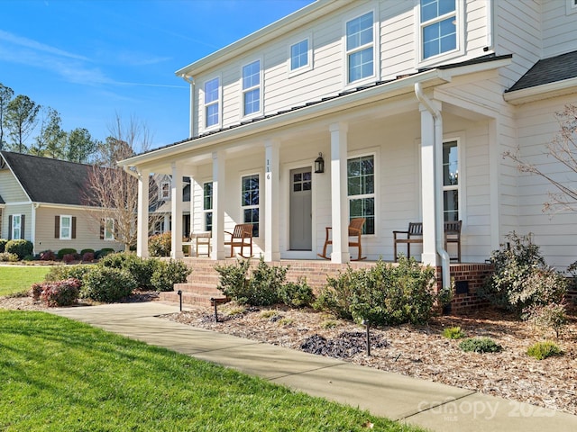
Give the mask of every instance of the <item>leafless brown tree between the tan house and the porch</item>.
<path id="1" fill-rule="evenodd" d="M 141 121 L 130 119 L 124 124 L 116 115 L 109 127 L 111 135 L 96 149 L 96 164 L 87 178 L 85 201 L 94 211 L 88 211 L 89 218 L 96 220 L 101 237 L 114 236 L 124 243 L 124 250 L 136 244 L 138 219 L 138 175 L 126 172 L 116 162 L 136 153 L 135 148 L 144 151 L 150 147 L 148 128 Z M 158 205 L 159 194 L 153 176 L 148 178 L 149 205 Z M 97 209 L 97 210 L 96 210 Z M 156 220 L 149 220 L 154 224 Z M 153 225 L 152 225 L 153 226 Z M 114 232 L 110 232 L 114 231 Z"/>

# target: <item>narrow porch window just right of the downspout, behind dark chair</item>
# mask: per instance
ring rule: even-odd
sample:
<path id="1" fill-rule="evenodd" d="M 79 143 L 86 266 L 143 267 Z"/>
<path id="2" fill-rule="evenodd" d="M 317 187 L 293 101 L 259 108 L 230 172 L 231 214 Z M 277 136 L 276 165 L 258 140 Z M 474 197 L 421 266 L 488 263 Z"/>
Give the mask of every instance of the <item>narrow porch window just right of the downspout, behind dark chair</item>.
<path id="1" fill-rule="evenodd" d="M 444 220 L 459 220 L 459 146 L 457 141 L 443 143 Z"/>

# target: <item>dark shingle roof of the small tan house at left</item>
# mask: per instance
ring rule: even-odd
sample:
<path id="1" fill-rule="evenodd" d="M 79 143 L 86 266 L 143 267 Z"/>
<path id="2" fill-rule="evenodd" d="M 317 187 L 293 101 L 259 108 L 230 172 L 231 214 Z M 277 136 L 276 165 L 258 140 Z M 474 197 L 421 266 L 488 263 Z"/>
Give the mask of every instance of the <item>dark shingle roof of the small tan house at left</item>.
<path id="1" fill-rule="evenodd" d="M 49 157 L 0 151 L 32 202 L 86 205 L 84 197 L 92 166 Z"/>

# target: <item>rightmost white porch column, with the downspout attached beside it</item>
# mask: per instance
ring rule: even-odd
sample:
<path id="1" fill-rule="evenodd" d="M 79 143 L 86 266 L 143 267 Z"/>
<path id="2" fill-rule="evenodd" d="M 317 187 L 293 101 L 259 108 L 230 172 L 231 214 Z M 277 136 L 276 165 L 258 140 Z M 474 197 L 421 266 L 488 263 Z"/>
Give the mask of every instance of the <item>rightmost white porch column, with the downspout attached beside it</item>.
<path id="1" fill-rule="evenodd" d="M 440 105 L 437 108 L 440 108 Z M 421 261 L 423 264 L 436 266 L 435 121 L 431 112 L 428 112 L 423 104 L 419 104 L 419 111 L 421 112 L 421 195 L 423 208 L 423 255 Z"/>

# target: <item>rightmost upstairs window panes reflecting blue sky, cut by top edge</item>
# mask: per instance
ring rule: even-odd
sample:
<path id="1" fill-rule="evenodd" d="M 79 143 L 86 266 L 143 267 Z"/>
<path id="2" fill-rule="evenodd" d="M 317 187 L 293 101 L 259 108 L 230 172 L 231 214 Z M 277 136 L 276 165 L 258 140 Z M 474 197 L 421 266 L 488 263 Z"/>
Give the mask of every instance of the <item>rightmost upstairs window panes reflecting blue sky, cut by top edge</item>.
<path id="1" fill-rule="evenodd" d="M 456 0 L 421 0 L 423 59 L 457 49 Z"/>

